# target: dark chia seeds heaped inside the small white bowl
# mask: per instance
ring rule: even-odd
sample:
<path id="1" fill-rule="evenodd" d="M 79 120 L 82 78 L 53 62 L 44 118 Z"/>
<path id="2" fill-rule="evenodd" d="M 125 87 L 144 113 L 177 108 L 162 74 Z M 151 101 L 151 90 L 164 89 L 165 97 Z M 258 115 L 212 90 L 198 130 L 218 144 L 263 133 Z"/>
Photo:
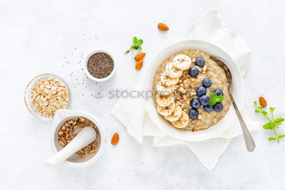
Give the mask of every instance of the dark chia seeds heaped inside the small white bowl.
<path id="1" fill-rule="evenodd" d="M 113 69 L 113 59 L 106 53 L 95 53 L 88 59 L 87 70 L 97 79 L 103 79 L 109 76 Z"/>

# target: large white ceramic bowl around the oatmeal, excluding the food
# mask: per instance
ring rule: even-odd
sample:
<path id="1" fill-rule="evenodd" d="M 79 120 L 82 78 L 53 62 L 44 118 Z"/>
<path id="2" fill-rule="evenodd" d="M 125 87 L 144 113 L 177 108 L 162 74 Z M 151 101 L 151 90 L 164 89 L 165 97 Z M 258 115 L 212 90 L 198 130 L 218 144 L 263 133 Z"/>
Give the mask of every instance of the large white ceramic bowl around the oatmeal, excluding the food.
<path id="1" fill-rule="evenodd" d="M 169 46 L 158 52 L 158 54 L 156 54 L 156 56 L 154 56 L 154 58 L 150 62 L 146 71 L 146 75 L 143 81 L 143 90 L 153 91 L 153 82 L 154 76 L 156 75 L 156 71 L 166 59 L 168 59 L 172 55 L 177 54 L 178 52 L 190 49 L 200 50 L 202 52 L 205 52 L 206 54 L 209 54 L 210 56 L 221 58 L 225 62 L 225 64 L 227 64 L 227 66 L 231 70 L 233 79 L 232 94 L 235 98 L 237 106 L 239 107 L 239 109 L 241 109 L 243 107 L 244 99 L 244 84 L 241 72 L 237 64 L 235 63 L 233 58 L 231 58 L 231 56 L 227 54 L 224 50 L 214 44 L 202 40 L 182 40 L 170 44 Z M 155 95 L 156 94 L 154 94 L 154 96 Z M 205 130 L 196 130 L 195 132 L 192 132 L 175 128 L 170 122 L 163 119 L 158 113 L 156 105 L 152 98 L 148 98 L 144 101 L 146 111 L 148 112 L 148 115 L 156 124 L 156 126 L 158 126 L 163 132 L 165 132 L 169 136 L 185 141 L 202 141 L 214 138 L 215 136 L 224 132 L 237 117 L 233 105 L 231 104 L 229 106 L 229 110 L 225 113 L 224 117 L 219 119 L 216 124 L 211 125 Z"/>

